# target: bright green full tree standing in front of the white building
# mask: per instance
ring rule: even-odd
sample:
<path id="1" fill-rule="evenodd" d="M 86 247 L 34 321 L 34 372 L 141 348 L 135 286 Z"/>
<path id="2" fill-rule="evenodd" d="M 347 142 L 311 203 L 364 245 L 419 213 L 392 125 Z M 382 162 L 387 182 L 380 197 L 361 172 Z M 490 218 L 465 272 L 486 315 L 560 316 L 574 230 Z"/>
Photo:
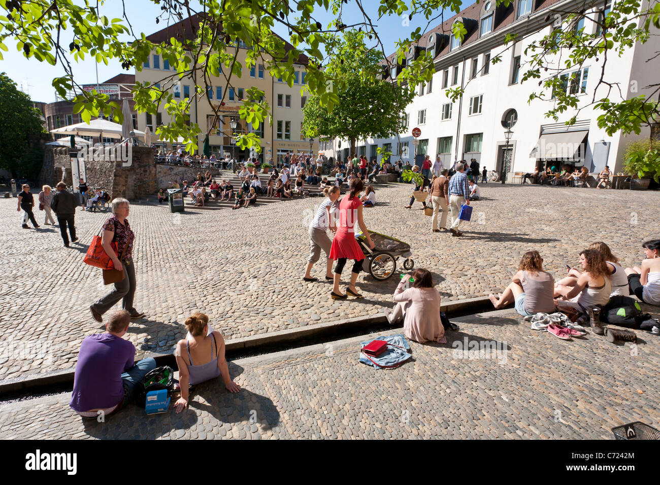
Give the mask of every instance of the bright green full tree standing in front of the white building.
<path id="1" fill-rule="evenodd" d="M 365 37 L 364 32 L 348 30 L 337 40 L 325 73 L 338 86 L 327 100 L 315 94 L 303 108 L 307 136 L 349 139 L 351 154 L 356 140 L 389 138 L 403 131 L 405 108 L 414 97 L 411 84 L 380 79 L 382 57 L 364 45 Z"/>

